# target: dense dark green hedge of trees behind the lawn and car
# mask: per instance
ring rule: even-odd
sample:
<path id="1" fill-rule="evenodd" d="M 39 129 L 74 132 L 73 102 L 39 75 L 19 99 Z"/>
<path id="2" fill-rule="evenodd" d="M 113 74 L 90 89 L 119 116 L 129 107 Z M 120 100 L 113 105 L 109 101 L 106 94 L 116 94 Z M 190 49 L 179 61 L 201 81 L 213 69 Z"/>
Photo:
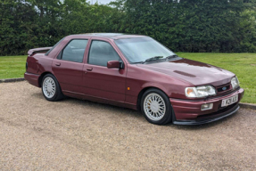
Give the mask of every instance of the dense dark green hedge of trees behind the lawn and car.
<path id="1" fill-rule="evenodd" d="M 0 0 L 0 55 L 26 54 L 70 34 L 154 37 L 175 52 L 256 53 L 254 0 Z"/>

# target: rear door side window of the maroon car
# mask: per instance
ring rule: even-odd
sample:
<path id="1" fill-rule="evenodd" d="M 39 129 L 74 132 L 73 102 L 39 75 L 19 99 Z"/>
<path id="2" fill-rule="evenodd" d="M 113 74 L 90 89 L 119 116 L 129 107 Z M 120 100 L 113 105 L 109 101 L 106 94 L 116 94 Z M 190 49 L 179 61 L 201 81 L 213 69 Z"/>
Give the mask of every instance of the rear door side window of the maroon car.
<path id="1" fill-rule="evenodd" d="M 83 62 L 87 42 L 88 40 L 83 39 L 71 40 L 57 58 L 64 61 Z"/>

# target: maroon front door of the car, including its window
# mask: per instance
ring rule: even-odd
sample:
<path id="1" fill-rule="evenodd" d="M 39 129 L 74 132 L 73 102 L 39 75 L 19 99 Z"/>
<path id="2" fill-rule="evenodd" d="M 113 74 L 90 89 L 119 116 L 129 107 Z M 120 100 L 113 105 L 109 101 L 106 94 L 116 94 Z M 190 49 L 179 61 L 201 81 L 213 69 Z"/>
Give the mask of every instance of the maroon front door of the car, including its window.
<path id="1" fill-rule="evenodd" d="M 116 102 L 125 101 L 126 69 L 108 69 L 108 61 L 121 61 L 111 44 L 92 40 L 84 67 L 84 94 Z"/>

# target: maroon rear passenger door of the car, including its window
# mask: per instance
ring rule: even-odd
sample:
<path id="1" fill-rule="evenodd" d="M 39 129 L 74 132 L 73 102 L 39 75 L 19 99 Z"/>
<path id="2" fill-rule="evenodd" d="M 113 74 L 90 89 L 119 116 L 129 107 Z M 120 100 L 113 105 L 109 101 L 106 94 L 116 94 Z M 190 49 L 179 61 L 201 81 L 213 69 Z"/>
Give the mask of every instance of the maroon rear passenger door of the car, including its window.
<path id="1" fill-rule="evenodd" d="M 54 59 L 52 68 L 63 92 L 82 93 L 87 39 L 72 39 Z"/>

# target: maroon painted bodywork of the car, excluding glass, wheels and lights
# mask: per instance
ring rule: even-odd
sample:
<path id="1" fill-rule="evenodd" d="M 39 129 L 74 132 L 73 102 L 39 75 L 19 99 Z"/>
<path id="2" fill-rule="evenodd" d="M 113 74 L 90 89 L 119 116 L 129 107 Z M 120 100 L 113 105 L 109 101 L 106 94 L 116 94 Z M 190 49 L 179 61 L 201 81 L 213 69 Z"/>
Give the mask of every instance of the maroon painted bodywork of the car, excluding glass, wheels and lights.
<path id="1" fill-rule="evenodd" d="M 161 61 L 148 64 L 130 64 L 120 52 L 114 39 L 128 37 L 144 37 L 133 35 L 111 36 L 101 34 L 73 35 L 65 37 L 54 50 L 47 56 L 37 53 L 42 49 L 29 50 L 27 72 L 25 78 L 30 84 L 40 87 L 41 79 L 45 73 L 52 73 L 62 87 L 62 93 L 80 99 L 95 102 L 111 103 L 131 109 L 138 109 L 139 94 L 146 88 L 155 87 L 161 89 L 169 96 L 175 117 L 178 120 L 193 119 L 199 115 L 212 113 L 218 110 L 222 99 L 239 94 L 239 101 L 244 95 L 244 89 L 231 94 L 217 94 L 208 100 L 187 98 L 185 88 L 197 85 L 219 85 L 230 84 L 235 74 L 225 69 L 211 66 L 198 61 L 182 59 L 178 61 Z M 86 53 L 82 63 L 62 61 L 56 59 L 62 48 L 71 39 L 88 39 Z M 110 43 L 120 59 L 124 62 L 124 69 L 95 66 L 87 63 L 88 51 L 92 40 L 103 40 Z M 44 50 L 44 48 L 43 48 Z M 35 54 L 36 52 L 36 54 Z M 32 54 L 32 56 L 30 55 Z M 116 65 L 112 61 L 109 66 Z M 128 90 L 128 87 L 130 88 Z M 212 110 L 201 110 L 201 105 L 213 102 Z"/>

